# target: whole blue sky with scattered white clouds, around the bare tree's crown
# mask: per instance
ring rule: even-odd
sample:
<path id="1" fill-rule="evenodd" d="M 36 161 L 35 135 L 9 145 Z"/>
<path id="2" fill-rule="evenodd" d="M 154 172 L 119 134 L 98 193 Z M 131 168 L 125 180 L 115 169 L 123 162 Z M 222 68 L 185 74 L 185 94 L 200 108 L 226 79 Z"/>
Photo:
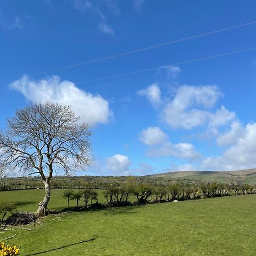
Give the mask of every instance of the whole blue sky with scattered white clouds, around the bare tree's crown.
<path id="1" fill-rule="evenodd" d="M 254 22 L 255 13 L 250 0 L 0 1 L 0 127 L 29 102 L 54 101 L 92 126 L 88 174 L 254 168 L 256 50 L 172 64 L 254 48 L 256 23 L 59 68 Z"/>

